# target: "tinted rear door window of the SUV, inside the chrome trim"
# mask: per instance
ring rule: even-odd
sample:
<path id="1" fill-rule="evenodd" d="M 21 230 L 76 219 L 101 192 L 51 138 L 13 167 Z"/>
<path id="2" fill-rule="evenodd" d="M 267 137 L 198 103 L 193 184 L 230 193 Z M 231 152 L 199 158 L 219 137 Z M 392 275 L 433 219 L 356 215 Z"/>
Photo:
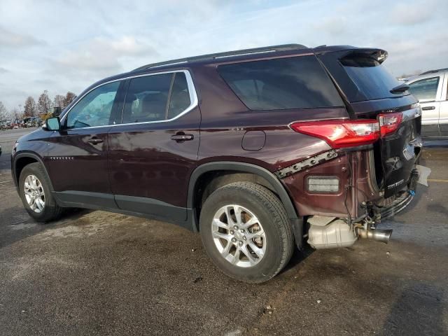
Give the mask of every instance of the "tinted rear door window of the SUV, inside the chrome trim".
<path id="1" fill-rule="evenodd" d="M 123 109 L 123 123 L 173 119 L 190 103 L 188 83 L 183 72 L 132 78 Z"/>

